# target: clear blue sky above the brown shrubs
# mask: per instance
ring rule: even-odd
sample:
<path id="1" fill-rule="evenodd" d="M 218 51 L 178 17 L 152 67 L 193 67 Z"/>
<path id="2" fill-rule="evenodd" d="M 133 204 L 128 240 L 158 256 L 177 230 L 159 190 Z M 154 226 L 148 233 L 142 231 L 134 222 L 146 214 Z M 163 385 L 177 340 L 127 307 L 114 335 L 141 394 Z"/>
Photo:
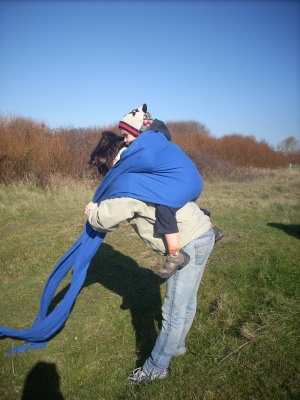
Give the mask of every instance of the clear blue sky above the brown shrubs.
<path id="1" fill-rule="evenodd" d="M 0 1 L 0 114 L 300 139 L 299 1 Z"/>

